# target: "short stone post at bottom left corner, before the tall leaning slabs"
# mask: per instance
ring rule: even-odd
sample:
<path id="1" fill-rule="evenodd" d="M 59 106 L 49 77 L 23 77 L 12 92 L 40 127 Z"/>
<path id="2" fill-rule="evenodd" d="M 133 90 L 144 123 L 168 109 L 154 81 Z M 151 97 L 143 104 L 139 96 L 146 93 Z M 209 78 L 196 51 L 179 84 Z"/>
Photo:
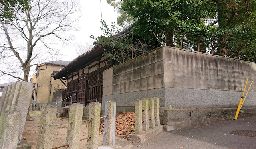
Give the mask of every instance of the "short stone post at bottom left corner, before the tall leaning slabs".
<path id="1" fill-rule="evenodd" d="M 16 110 L 3 111 L 0 116 L 0 149 L 16 149 L 20 132 L 21 114 Z"/>

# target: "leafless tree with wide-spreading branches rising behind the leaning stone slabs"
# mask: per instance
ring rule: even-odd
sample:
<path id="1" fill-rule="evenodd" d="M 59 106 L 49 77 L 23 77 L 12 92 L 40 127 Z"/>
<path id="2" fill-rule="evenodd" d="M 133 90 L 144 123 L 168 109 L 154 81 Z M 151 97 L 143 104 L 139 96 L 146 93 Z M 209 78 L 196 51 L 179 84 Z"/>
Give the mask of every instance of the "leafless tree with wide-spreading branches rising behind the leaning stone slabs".
<path id="1" fill-rule="evenodd" d="M 28 10 L 14 12 L 12 22 L 0 20 L 0 73 L 28 81 L 34 59 L 58 55 L 56 44 L 72 43 L 67 32 L 76 30 L 77 12 L 75 0 L 34 0 Z"/>

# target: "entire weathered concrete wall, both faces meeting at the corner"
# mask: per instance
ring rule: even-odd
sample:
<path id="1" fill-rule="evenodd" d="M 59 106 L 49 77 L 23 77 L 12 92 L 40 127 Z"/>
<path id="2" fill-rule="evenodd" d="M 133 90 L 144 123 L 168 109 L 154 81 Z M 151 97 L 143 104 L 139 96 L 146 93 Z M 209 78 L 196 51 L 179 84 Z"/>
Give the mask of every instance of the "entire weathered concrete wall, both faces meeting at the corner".
<path id="1" fill-rule="evenodd" d="M 237 106 L 255 73 L 256 63 L 162 46 L 104 71 L 103 102 L 129 107 L 157 96 L 161 107 Z M 255 97 L 252 84 L 244 105 L 256 106 Z"/>

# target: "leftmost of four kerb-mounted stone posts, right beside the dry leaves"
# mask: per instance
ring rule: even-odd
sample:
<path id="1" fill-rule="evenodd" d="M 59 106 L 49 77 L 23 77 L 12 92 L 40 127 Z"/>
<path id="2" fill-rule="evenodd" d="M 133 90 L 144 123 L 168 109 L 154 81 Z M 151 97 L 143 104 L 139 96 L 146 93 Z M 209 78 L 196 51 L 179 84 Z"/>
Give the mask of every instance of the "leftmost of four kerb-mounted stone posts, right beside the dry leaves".
<path id="1" fill-rule="evenodd" d="M 135 100 L 135 134 L 142 133 L 142 100 Z"/>

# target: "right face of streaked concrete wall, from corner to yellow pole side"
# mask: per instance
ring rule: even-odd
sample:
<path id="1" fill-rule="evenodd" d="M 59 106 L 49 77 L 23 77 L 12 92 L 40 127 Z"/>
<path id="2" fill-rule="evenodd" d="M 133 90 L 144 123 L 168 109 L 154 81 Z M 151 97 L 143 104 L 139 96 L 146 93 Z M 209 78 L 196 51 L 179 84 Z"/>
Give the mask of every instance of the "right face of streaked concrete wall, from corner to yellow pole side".
<path id="1" fill-rule="evenodd" d="M 236 106 L 256 73 L 248 61 L 166 46 L 163 53 L 165 106 Z M 256 105 L 255 91 L 252 84 L 244 106 Z"/>

